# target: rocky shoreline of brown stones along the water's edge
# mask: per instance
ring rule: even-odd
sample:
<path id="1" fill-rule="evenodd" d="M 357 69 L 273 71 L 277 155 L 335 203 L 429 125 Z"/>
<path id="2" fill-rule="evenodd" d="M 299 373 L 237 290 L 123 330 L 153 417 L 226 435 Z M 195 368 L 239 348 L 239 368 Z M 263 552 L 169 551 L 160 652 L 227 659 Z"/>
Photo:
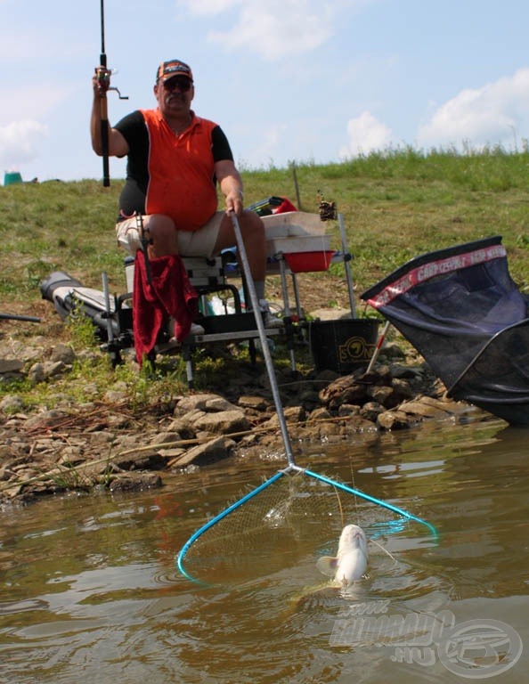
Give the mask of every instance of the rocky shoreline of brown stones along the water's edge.
<path id="1" fill-rule="evenodd" d="M 1 358 L 0 378 L 24 373 L 35 383 L 68 374 L 69 346 L 45 360 Z M 332 371 L 292 378 L 278 374 L 292 444 L 347 440 L 359 433 L 406 429 L 461 411 L 420 359 L 388 345 L 375 370 L 340 377 Z M 189 393 L 134 411 L 116 383 L 102 400 L 27 413 L 20 397 L 0 402 L 0 504 L 94 487 L 111 492 L 159 487 L 175 468 L 207 468 L 218 460 L 256 459 L 281 448 L 280 423 L 268 379 L 223 394 Z"/>

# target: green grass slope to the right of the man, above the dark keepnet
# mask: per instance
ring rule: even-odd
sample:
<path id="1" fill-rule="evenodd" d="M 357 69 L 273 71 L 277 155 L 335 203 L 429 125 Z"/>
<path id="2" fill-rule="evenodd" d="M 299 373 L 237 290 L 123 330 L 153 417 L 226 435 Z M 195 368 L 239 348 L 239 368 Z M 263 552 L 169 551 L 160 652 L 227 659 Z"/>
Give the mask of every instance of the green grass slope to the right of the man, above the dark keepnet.
<path id="1" fill-rule="evenodd" d="M 527 151 L 388 151 L 325 167 L 299 165 L 297 180 L 302 208 L 317 210 L 321 190 L 344 215 L 359 291 L 413 256 L 496 234 L 511 275 L 529 289 Z M 289 170 L 249 173 L 245 183 L 257 196 L 273 191 L 295 199 Z"/>

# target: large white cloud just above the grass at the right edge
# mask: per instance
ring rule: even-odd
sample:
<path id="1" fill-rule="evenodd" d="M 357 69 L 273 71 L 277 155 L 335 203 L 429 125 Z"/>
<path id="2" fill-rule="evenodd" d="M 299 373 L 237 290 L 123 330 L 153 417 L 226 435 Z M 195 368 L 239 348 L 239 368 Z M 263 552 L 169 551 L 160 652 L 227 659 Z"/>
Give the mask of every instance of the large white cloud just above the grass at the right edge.
<path id="1" fill-rule="evenodd" d="M 437 147 L 464 143 L 476 148 L 497 143 L 512 146 L 527 118 L 529 69 L 518 69 L 513 76 L 462 90 L 445 102 L 420 126 L 418 142 Z"/>

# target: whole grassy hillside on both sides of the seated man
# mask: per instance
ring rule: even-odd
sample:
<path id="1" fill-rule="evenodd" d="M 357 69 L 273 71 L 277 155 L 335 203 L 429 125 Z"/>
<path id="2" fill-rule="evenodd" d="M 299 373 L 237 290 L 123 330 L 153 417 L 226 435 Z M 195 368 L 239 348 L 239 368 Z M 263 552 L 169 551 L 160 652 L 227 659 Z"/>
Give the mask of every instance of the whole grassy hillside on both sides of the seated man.
<path id="1" fill-rule="evenodd" d="M 423 155 L 408 149 L 342 164 L 298 164 L 296 172 L 297 187 L 291 168 L 244 170 L 246 202 L 281 195 L 297 203 L 297 190 L 305 211 L 318 211 L 320 192 L 336 202 L 354 253 L 357 293 L 413 256 L 495 234 L 503 236 L 514 280 L 529 291 L 529 153 Z M 0 336 L 72 338 L 40 296 L 39 283 L 55 270 L 96 289 L 106 271 L 110 289 L 124 291 L 123 253 L 114 234 L 122 184 L 50 181 L 0 188 L 0 311 L 43 319 L 39 325 L 0 322 Z M 328 225 L 339 248 L 338 225 Z M 304 276 L 302 297 L 305 289 L 313 305 L 346 305 L 342 269 L 333 265 L 329 273 Z M 277 282 L 273 287 L 281 291 Z M 34 387 L 26 389 L 35 395 Z M 2 387 L 0 394 L 8 390 Z"/>

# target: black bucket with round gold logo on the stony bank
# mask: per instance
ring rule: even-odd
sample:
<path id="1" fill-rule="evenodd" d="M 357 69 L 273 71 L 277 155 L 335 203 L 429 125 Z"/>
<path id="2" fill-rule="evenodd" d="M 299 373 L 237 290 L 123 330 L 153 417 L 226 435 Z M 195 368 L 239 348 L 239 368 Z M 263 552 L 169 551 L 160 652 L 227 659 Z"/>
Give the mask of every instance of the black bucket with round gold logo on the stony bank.
<path id="1" fill-rule="evenodd" d="M 309 341 L 316 371 L 347 375 L 367 367 L 377 346 L 378 320 L 344 318 L 309 323 Z"/>

